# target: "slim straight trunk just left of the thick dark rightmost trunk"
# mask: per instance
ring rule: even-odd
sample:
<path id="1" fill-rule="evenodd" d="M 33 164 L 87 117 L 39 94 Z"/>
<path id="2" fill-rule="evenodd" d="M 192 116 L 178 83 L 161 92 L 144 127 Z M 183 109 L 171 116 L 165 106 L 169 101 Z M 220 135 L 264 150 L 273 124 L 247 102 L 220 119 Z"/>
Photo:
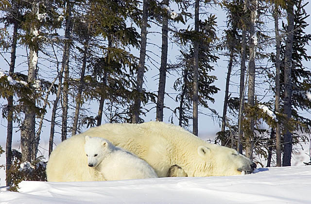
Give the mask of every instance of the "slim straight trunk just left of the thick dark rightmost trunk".
<path id="1" fill-rule="evenodd" d="M 278 33 L 278 6 L 275 5 L 274 23 L 276 32 L 276 112 L 280 112 L 280 37 Z M 276 122 L 276 166 L 281 166 L 281 127 Z"/>

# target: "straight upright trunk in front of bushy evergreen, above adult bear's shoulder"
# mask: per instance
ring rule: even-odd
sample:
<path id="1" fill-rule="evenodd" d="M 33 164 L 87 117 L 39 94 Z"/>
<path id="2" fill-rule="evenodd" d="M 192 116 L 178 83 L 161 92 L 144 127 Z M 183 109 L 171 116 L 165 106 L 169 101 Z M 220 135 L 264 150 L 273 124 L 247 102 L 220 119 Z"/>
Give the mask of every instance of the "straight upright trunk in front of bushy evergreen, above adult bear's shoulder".
<path id="1" fill-rule="evenodd" d="M 194 7 L 194 30 L 199 33 L 199 7 L 200 1 L 195 0 Z M 194 53 L 193 53 L 193 130 L 192 133 L 198 136 L 198 98 L 199 98 L 199 42 L 198 39 L 194 40 Z"/>

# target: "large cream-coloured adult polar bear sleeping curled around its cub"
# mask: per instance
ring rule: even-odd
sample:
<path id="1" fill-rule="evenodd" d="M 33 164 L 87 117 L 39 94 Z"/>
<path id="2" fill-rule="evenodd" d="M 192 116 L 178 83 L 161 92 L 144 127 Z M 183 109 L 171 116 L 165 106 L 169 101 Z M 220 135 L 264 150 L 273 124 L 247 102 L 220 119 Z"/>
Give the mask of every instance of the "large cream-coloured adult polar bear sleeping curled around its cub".
<path id="1" fill-rule="evenodd" d="M 255 163 L 237 151 L 207 143 L 179 126 L 155 121 L 141 124 L 107 123 L 72 136 L 61 147 L 62 151 L 57 147 L 47 165 L 48 181 L 65 181 L 67 176 L 74 175 L 79 168 L 86 166 L 86 158 L 78 163 L 76 157 L 84 156 L 83 143 L 87 135 L 103 137 L 138 155 L 154 168 L 159 177 L 167 176 L 174 165 L 181 167 L 188 176 L 237 175 L 256 168 Z M 73 144 L 70 139 L 79 142 Z M 72 159 L 76 166 L 67 167 L 66 164 L 72 163 Z M 60 175 L 64 179 L 60 179 Z"/>

